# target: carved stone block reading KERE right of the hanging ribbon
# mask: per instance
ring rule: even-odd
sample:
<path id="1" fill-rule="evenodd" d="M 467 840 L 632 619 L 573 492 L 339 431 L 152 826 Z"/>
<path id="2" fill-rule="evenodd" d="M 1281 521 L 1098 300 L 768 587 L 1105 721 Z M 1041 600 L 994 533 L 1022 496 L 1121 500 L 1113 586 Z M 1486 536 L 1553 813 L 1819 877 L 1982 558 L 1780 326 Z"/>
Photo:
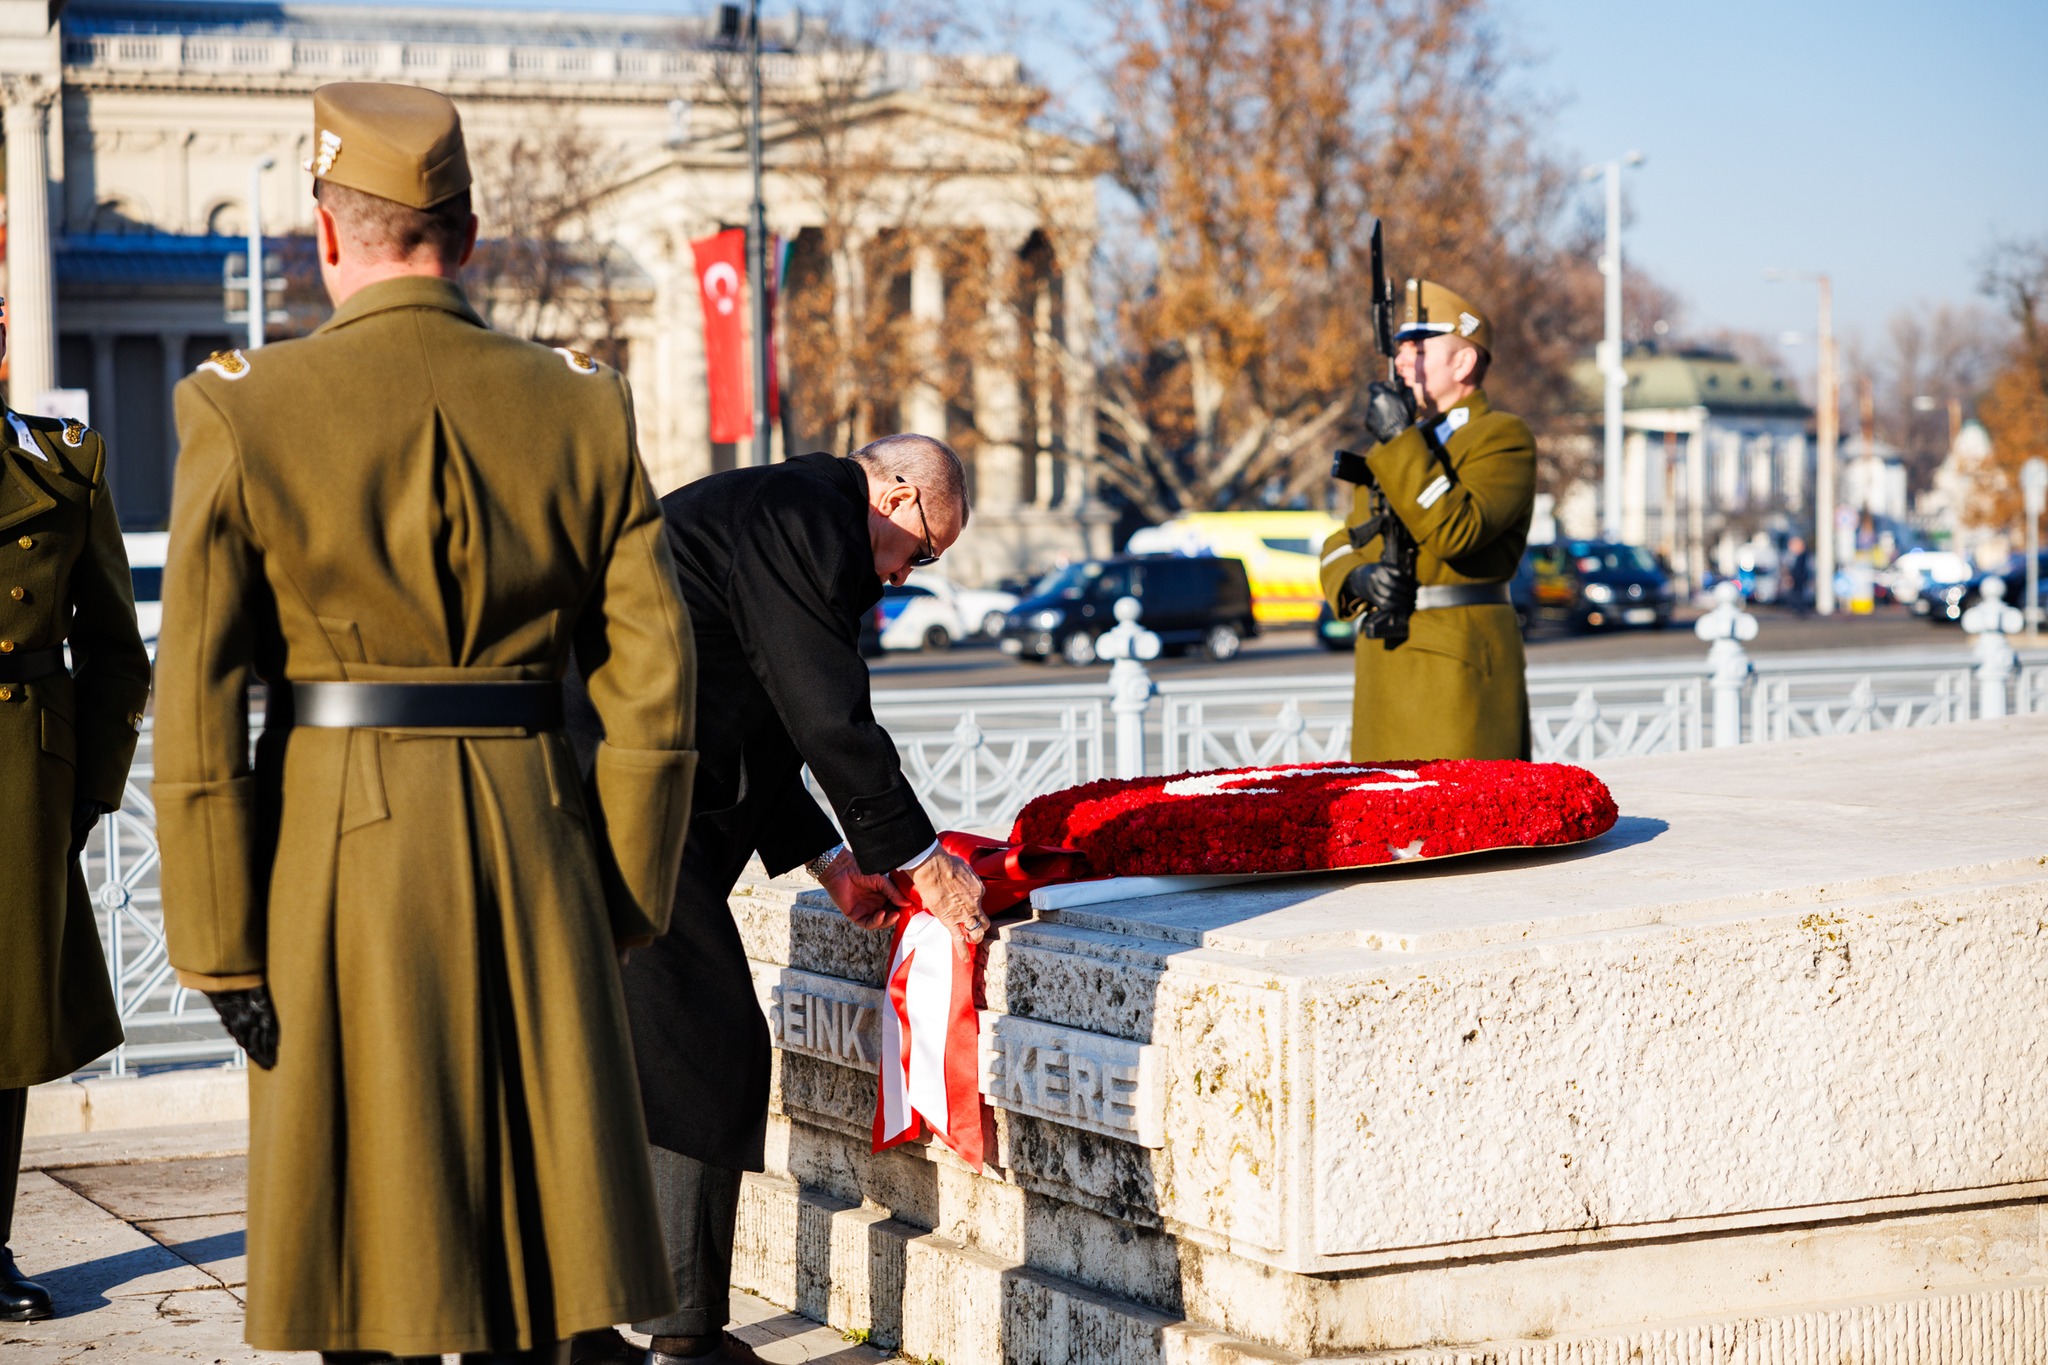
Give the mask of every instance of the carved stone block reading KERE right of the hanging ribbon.
<path id="1" fill-rule="evenodd" d="M 1159 1048 L 981 1011 L 981 1093 L 997 1109 L 1165 1146 Z"/>

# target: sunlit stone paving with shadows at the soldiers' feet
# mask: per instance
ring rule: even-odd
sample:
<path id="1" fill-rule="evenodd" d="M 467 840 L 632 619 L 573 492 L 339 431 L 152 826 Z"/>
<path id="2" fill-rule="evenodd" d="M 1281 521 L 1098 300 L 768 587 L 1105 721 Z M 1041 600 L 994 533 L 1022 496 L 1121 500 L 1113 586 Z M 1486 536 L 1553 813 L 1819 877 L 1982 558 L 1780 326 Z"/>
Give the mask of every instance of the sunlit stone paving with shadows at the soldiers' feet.
<path id="1" fill-rule="evenodd" d="M 49 1287 L 57 1316 L 0 1322 L 0 1361 L 317 1361 L 242 1342 L 246 1150 L 246 1124 L 31 1140 L 14 1254 Z M 889 1359 L 743 1293 L 733 1295 L 733 1320 L 764 1365 Z"/>

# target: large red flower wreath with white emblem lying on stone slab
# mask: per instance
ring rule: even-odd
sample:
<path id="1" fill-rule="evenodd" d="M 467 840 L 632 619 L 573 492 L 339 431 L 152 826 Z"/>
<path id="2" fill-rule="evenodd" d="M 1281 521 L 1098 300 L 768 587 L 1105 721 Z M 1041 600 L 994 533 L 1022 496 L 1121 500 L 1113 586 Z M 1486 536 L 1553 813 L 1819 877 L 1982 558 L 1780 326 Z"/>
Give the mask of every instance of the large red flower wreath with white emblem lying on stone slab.
<path id="1" fill-rule="evenodd" d="M 1024 806 L 1010 841 L 1079 849 L 1096 876 L 1305 872 L 1579 843 L 1614 821 L 1608 786 L 1569 763 L 1290 763 L 1087 782 Z"/>

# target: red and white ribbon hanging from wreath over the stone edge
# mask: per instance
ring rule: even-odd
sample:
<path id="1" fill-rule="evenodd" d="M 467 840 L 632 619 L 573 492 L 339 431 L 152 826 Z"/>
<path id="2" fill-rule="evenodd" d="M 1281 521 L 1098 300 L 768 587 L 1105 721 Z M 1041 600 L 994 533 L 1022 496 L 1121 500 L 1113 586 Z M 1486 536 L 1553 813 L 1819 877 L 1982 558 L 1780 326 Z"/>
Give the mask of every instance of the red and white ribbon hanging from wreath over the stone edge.
<path id="1" fill-rule="evenodd" d="M 1038 886 L 1090 876 L 1087 860 L 1071 849 L 1016 847 L 956 831 L 940 835 L 940 845 L 981 878 L 985 915 L 1030 900 Z M 889 943 L 874 1150 L 909 1142 L 930 1128 L 961 1160 L 979 1166 L 985 1109 L 975 980 L 981 950 L 958 952 L 961 939 L 952 929 L 932 919 L 907 876 L 895 876 L 909 909 L 897 919 Z"/>

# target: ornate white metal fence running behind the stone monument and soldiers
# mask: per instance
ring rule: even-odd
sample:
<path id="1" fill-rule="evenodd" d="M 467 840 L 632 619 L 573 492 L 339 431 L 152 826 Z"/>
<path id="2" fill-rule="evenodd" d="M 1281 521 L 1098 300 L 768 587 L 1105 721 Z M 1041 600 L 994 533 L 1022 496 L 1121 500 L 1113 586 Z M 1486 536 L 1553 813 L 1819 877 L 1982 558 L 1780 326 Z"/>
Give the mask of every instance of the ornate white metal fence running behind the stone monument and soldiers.
<path id="1" fill-rule="evenodd" d="M 1133 659 L 1118 667 L 1124 663 Z M 1128 698 L 1133 681 L 1149 702 L 1112 710 L 1112 688 Z M 1139 772 L 1186 772 L 1341 759 L 1352 741 L 1348 671 L 1157 686 L 1141 671 L 1112 688 L 1049 681 L 877 692 L 874 714 L 895 737 L 932 819 L 954 829 L 1008 829 L 1032 796 L 1112 776 L 1116 753 L 1137 755 Z M 1722 655 L 1712 669 L 1704 657 L 1538 665 L 1528 690 L 1536 757 L 1597 765 L 1710 743 L 2048 712 L 2048 651 L 1839 651 L 1741 657 L 1733 667 Z M 1720 702 L 1729 706 L 1716 710 Z M 1137 733 L 1118 745 L 1116 726 Z M 205 999 L 176 984 L 164 954 L 150 739 L 145 724 L 127 802 L 100 823 L 86 851 L 106 966 L 129 1029 L 129 1044 L 109 1060 L 115 1072 L 236 1056 Z"/>

